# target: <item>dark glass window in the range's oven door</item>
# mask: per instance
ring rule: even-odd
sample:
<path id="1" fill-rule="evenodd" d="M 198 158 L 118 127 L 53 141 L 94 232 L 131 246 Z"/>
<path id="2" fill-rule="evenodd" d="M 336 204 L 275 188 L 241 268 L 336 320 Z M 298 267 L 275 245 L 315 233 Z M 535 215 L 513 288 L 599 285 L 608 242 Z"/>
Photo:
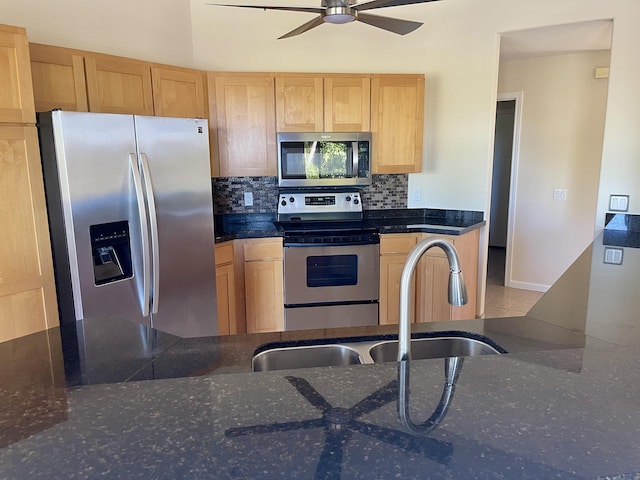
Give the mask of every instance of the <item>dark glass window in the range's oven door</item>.
<path id="1" fill-rule="evenodd" d="M 357 255 L 307 257 L 307 287 L 341 287 L 357 284 Z"/>

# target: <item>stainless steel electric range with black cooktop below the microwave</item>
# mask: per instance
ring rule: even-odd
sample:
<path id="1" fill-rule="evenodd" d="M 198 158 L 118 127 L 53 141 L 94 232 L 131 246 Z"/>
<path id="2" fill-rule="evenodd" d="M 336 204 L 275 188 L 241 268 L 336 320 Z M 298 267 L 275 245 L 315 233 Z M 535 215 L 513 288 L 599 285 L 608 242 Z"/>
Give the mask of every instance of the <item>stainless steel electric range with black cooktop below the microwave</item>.
<path id="1" fill-rule="evenodd" d="M 380 238 L 358 190 L 283 190 L 284 328 L 378 324 Z"/>

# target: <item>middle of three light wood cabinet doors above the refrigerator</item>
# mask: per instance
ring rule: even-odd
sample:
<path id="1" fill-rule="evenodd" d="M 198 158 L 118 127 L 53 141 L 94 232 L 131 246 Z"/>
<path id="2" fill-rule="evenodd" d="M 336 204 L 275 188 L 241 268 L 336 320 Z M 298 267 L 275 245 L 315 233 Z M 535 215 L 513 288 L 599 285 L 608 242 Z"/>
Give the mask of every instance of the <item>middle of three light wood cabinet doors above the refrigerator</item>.
<path id="1" fill-rule="evenodd" d="M 84 59 L 89 111 L 153 115 L 151 66 L 108 55 Z"/>

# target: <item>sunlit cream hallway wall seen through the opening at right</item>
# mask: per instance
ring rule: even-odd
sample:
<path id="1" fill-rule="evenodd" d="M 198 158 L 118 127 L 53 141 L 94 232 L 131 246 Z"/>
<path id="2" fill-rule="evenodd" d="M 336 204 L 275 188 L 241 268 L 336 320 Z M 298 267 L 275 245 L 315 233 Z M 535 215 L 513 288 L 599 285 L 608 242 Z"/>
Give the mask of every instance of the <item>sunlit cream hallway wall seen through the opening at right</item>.
<path id="1" fill-rule="evenodd" d="M 608 51 L 500 64 L 498 91 L 523 92 L 511 286 L 546 290 L 593 240 L 608 65 Z"/>

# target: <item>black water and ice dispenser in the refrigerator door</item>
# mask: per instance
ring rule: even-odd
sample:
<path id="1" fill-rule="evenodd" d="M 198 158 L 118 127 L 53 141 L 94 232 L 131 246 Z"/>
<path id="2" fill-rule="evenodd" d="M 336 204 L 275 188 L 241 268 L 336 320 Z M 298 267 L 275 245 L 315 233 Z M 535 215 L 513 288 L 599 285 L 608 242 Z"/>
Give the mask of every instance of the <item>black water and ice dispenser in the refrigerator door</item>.
<path id="1" fill-rule="evenodd" d="M 129 222 L 101 223 L 89 226 L 93 274 L 96 285 L 131 278 Z"/>

